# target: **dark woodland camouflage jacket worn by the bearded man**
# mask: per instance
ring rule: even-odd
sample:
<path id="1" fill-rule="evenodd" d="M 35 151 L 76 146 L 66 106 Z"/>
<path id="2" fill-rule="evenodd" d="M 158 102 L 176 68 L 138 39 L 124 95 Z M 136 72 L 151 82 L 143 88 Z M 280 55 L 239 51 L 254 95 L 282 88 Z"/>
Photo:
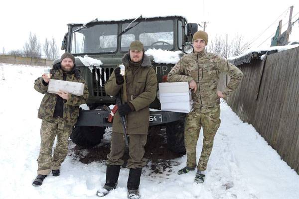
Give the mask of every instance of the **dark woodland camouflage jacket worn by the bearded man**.
<path id="1" fill-rule="evenodd" d="M 63 80 L 63 71 L 60 68 L 60 63 L 53 65 L 51 69 L 51 79 L 55 80 Z M 85 84 L 85 81 L 79 75 L 79 71 L 76 70 L 76 66 L 74 70 L 70 73 L 67 73 L 66 81 L 70 82 L 80 82 Z M 40 107 L 38 110 L 38 118 L 44 119 L 48 122 L 53 121 L 53 114 L 56 105 L 56 98 L 58 95 L 47 93 L 48 85 L 43 83 L 42 77 L 38 78 L 34 82 L 34 89 L 41 94 L 45 94 L 43 97 Z M 84 94 L 83 96 L 75 96 L 69 94 L 68 100 L 63 100 L 63 120 L 67 127 L 73 127 L 78 119 L 79 114 L 79 105 L 85 103 L 88 98 L 88 89 L 85 84 Z"/>

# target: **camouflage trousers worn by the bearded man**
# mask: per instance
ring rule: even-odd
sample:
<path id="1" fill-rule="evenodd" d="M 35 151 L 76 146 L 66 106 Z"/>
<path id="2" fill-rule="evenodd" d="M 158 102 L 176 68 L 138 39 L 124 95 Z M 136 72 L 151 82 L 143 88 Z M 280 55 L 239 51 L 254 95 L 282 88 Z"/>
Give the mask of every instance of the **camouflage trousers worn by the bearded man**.
<path id="1" fill-rule="evenodd" d="M 37 175 L 48 175 L 51 170 L 60 169 L 68 150 L 68 138 L 72 128 L 64 126 L 62 118 L 55 118 L 54 122 L 42 120 L 40 128 L 40 151 L 37 159 Z M 52 147 L 57 135 L 57 143 L 52 156 Z"/>

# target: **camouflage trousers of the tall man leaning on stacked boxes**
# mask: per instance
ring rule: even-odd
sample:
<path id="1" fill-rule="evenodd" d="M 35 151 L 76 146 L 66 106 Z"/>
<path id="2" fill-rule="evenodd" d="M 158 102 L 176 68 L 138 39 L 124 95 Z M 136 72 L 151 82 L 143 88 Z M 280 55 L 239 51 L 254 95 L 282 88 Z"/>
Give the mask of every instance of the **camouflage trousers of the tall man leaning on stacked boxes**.
<path id="1" fill-rule="evenodd" d="M 205 171 L 212 152 L 214 137 L 220 126 L 220 106 L 195 108 L 186 118 L 184 141 L 187 154 L 187 166 L 196 167 L 196 143 L 201 126 L 203 127 L 203 145 L 197 164 L 199 171 Z"/>

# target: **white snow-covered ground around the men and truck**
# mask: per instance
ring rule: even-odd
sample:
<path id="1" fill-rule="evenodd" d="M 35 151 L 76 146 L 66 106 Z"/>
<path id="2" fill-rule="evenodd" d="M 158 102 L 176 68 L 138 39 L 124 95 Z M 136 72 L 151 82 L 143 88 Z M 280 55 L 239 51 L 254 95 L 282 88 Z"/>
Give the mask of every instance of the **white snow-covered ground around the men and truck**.
<path id="1" fill-rule="evenodd" d="M 106 166 L 83 164 L 67 156 L 59 177 L 48 176 L 33 187 L 39 152 L 37 118 L 42 95 L 33 89 L 44 67 L 0 64 L 0 199 L 97 199 L 105 183 Z M 172 172 L 152 174 L 145 168 L 140 192 L 143 199 L 299 199 L 299 176 L 256 132 L 221 103 L 222 123 L 216 134 L 206 181 L 193 183 L 195 171 L 178 176 L 186 156 Z M 202 132 L 197 154 L 201 151 Z M 73 144 L 70 148 L 74 147 Z M 129 170 L 120 172 L 118 188 L 105 199 L 125 199 Z M 170 174 L 170 175 L 168 175 Z"/>

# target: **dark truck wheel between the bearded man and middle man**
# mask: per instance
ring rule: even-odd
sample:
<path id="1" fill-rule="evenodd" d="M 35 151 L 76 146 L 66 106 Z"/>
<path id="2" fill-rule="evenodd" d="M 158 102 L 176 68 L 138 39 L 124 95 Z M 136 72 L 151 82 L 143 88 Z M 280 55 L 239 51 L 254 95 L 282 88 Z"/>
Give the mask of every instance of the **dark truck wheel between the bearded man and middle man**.
<path id="1" fill-rule="evenodd" d="M 101 143 L 105 128 L 99 126 L 76 126 L 70 135 L 78 146 L 93 147 Z"/>

